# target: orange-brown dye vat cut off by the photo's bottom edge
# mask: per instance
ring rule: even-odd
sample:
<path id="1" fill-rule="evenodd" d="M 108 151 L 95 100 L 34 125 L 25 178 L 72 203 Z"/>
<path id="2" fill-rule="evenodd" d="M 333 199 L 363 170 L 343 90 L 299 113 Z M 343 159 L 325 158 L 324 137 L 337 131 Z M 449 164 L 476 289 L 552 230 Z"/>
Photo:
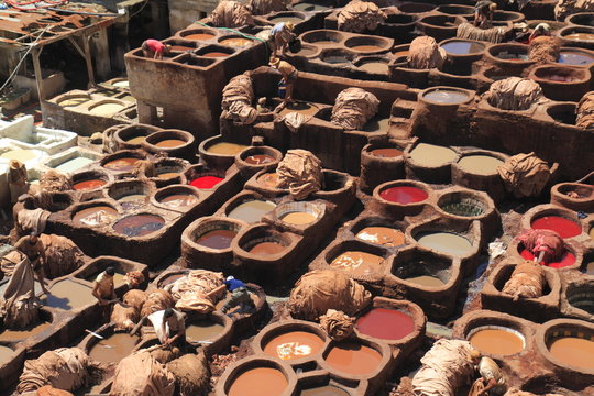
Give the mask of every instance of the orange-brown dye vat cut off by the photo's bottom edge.
<path id="1" fill-rule="evenodd" d="M 280 371 L 257 367 L 240 374 L 231 384 L 228 396 L 278 396 L 287 386 L 288 381 Z"/>

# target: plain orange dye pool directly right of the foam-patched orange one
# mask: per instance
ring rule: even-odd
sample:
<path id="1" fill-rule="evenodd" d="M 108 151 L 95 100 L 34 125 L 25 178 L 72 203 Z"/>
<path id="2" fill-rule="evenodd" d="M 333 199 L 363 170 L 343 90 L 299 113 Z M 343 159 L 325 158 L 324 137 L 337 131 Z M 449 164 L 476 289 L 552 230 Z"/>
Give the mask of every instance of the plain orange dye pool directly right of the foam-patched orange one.
<path id="1" fill-rule="evenodd" d="M 377 370 L 382 355 L 370 346 L 342 342 L 330 350 L 326 362 L 343 373 L 365 375 Z"/>

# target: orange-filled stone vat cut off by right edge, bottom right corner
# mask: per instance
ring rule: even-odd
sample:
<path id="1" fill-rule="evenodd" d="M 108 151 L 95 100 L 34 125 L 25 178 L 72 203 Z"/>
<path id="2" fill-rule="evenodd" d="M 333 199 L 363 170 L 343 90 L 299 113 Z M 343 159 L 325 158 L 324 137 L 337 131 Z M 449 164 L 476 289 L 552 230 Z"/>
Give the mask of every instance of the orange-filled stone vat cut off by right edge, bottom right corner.
<path id="1" fill-rule="evenodd" d="M 562 367 L 594 372 L 594 330 L 587 322 L 557 319 L 544 332 L 546 358 Z M 566 323 L 563 323 L 566 322 Z M 552 358 L 552 359 L 551 359 Z"/>

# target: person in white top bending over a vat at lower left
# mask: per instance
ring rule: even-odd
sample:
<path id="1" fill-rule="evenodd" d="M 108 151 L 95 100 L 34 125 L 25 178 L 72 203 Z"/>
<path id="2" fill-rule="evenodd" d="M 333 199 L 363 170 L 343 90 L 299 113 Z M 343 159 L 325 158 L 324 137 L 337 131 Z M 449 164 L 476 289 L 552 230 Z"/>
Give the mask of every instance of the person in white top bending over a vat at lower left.
<path id="1" fill-rule="evenodd" d="M 158 341 L 165 346 L 184 346 L 186 344 L 186 315 L 167 308 L 145 316 L 130 332 L 134 336 L 148 319 L 153 323 Z"/>

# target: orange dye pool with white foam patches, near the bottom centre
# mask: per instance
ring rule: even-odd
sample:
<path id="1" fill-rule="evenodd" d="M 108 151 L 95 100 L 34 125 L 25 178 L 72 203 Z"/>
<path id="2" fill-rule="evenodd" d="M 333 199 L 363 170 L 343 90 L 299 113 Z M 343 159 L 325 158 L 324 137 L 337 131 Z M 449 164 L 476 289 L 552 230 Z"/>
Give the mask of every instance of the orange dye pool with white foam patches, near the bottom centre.
<path id="1" fill-rule="evenodd" d="M 275 337 L 266 346 L 264 353 L 280 360 L 295 360 L 318 353 L 323 348 L 323 340 L 307 331 L 290 331 Z"/>

